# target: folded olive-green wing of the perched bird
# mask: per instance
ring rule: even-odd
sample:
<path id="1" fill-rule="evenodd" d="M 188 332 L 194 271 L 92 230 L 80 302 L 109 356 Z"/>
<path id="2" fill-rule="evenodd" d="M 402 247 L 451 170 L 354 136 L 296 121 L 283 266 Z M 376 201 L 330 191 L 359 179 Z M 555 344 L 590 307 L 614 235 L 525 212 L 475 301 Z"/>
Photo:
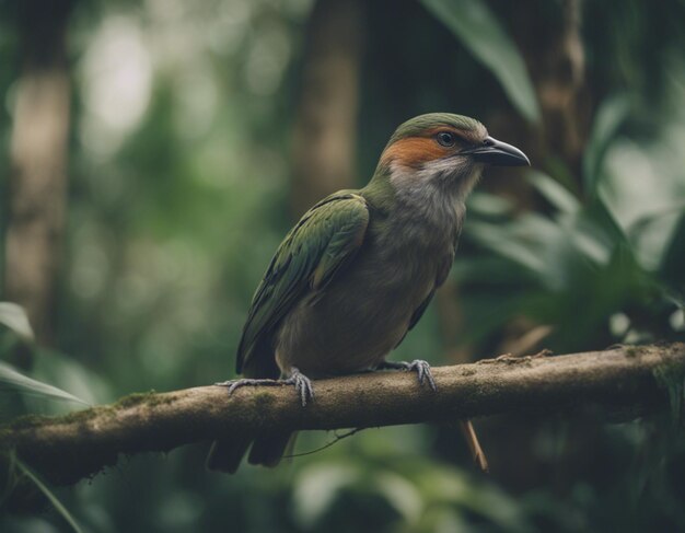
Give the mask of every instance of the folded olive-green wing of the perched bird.
<path id="1" fill-rule="evenodd" d="M 288 233 L 252 300 L 237 348 L 236 371 L 278 373 L 271 348 L 279 322 L 309 291 L 322 291 L 355 257 L 369 224 L 367 201 L 340 192 L 316 204 Z M 251 372 L 254 373 L 254 372 Z"/>

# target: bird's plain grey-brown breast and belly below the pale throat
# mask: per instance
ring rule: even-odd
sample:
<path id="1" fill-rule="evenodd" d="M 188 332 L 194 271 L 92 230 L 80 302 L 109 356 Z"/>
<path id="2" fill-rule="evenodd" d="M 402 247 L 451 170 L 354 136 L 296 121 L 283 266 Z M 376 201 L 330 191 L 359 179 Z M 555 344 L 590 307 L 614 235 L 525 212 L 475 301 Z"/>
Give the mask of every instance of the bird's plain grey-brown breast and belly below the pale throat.
<path id="1" fill-rule="evenodd" d="M 309 293 L 285 317 L 276 343 L 281 370 L 317 378 L 368 369 L 402 340 L 436 287 L 453 242 L 405 229 L 391 243 L 372 228 L 350 266 L 323 293 Z"/>

